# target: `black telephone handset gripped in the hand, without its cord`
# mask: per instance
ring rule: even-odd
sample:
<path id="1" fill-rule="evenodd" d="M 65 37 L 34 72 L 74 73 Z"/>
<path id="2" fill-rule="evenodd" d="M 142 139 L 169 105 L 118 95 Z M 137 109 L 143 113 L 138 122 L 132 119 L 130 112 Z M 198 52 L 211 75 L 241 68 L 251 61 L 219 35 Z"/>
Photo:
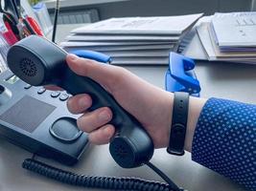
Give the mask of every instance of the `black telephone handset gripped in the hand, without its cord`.
<path id="1" fill-rule="evenodd" d="M 110 123 L 116 127 L 116 135 L 109 144 L 112 158 L 124 168 L 147 163 L 154 148 L 148 133 L 100 84 L 72 72 L 66 64 L 66 55 L 56 44 L 31 35 L 12 46 L 7 60 L 12 73 L 31 85 L 57 85 L 73 96 L 89 94 L 93 99 L 90 110 L 111 108 Z"/>

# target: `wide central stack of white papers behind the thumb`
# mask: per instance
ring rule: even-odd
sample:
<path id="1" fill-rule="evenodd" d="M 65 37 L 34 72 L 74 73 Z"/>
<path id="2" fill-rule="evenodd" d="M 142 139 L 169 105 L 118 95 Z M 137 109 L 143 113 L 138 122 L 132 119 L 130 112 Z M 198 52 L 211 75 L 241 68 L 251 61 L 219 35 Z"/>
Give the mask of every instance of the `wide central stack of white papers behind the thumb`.
<path id="1" fill-rule="evenodd" d="M 60 46 L 108 54 L 116 65 L 167 65 L 169 53 L 201 16 L 111 18 L 72 31 Z"/>

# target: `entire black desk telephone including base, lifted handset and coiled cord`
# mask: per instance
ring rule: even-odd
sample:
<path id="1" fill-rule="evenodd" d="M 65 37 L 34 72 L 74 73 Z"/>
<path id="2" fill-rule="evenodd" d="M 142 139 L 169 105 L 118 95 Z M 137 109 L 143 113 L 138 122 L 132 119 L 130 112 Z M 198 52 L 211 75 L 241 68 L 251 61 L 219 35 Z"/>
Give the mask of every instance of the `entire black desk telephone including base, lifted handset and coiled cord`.
<path id="1" fill-rule="evenodd" d="M 107 106 L 113 111 L 111 123 L 116 127 L 116 135 L 109 144 L 112 158 L 124 168 L 147 164 L 168 184 L 131 178 L 80 176 L 33 159 L 26 159 L 23 167 L 80 186 L 108 190 L 142 190 L 145 186 L 149 188 L 146 190 L 181 190 L 149 161 L 153 144 L 140 123 L 97 82 L 73 73 L 65 63 L 66 54 L 54 43 L 35 35 L 12 46 L 7 57 L 12 72 L 0 76 L 1 96 L 5 97 L 3 103 L 0 98 L 0 134 L 37 155 L 74 164 L 80 159 L 88 140 L 86 134 L 78 130 L 76 116 L 68 113 L 65 100 L 69 94 L 87 93 L 93 99 L 90 110 Z M 58 85 L 67 92 L 45 91 L 41 86 L 48 84 Z"/>

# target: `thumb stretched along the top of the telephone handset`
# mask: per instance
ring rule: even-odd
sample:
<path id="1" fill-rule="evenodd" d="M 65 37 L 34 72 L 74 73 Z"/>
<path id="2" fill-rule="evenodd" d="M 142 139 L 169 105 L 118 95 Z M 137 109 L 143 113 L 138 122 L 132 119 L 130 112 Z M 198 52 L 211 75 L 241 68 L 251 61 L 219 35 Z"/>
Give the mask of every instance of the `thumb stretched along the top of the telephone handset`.
<path id="1" fill-rule="evenodd" d="M 81 58 L 72 53 L 67 55 L 66 62 L 74 73 L 87 76 L 100 83 L 109 93 L 112 92 L 114 85 L 120 81 L 124 73 L 120 67 Z"/>

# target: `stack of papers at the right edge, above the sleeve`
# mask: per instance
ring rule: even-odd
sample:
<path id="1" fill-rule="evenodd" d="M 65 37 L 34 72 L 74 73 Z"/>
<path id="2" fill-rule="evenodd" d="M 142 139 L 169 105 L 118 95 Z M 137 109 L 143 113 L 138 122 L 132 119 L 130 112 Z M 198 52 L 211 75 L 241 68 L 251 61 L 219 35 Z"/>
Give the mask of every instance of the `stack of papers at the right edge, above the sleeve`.
<path id="1" fill-rule="evenodd" d="M 216 13 L 197 31 L 209 60 L 256 64 L 256 12 Z"/>

